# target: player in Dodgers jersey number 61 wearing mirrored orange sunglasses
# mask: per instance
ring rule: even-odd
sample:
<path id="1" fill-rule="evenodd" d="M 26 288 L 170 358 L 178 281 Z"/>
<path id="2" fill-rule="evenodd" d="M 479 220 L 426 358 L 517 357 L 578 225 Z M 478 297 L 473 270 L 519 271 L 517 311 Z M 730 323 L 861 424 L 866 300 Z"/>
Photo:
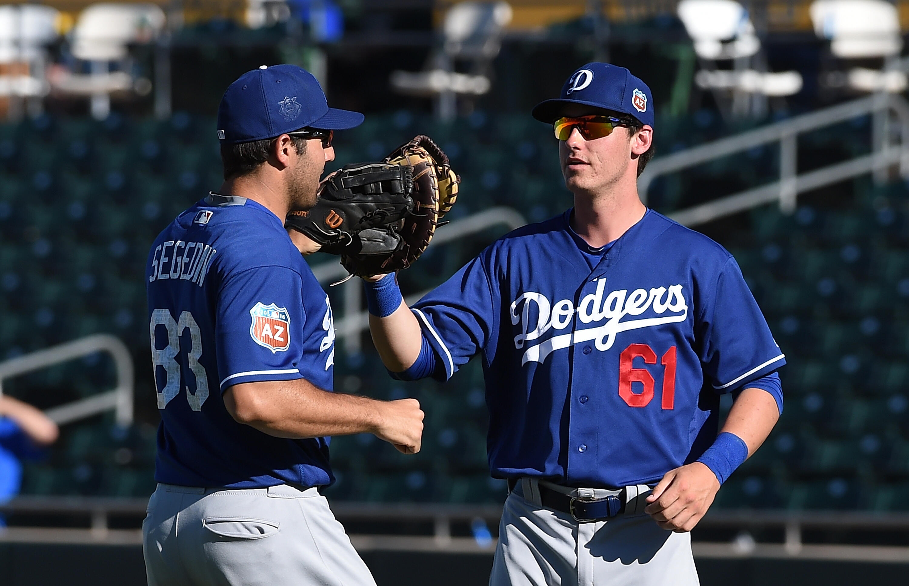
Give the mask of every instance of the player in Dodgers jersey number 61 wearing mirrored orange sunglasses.
<path id="1" fill-rule="evenodd" d="M 445 380 L 482 356 L 489 464 L 510 489 L 495 586 L 697 584 L 688 531 L 783 409 L 784 356 L 734 258 L 638 197 L 653 110 L 627 69 L 584 65 L 533 112 L 553 124 L 573 208 L 412 309 L 394 274 L 366 279 L 396 377 Z"/>

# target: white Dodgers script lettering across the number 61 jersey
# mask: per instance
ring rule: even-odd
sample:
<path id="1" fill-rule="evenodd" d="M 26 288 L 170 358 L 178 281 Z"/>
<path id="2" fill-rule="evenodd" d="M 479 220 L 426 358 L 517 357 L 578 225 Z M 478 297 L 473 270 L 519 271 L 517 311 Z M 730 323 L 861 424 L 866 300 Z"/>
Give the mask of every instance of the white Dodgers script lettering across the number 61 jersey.
<path id="1" fill-rule="evenodd" d="M 528 362 L 543 363 L 546 357 L 556 350 L 591 340 L 595 341 L 597 350 L 604 352 L 613 347 L 618 333 L 664 323 L 684 322 L 688 319 L 688 304 L 685 303 L 681 284 L 654 287 L 649 291 L 634 289 L 631 293 L 628 293 L 627 289 L 618 289 L 610 292 L 604 299 L 605 285 L 606 280 L 599 279 L 596 292 L 585 295 L 577 308 L 570 299 L 552 303 L 542 293 L 528 292 L 519 295 L 511 303 L 510 313 L 512 325 L 519 325 L 521 332 L 514 336 L 514 348 L 520 350 L 526 345 L 521 365 Z M 534 310 L 536 320 L 532 323 Z M 623 321 L 628 315 L 643 315 L 648 310 L 656 316 Z M 665 315 L 667 312 L 669 314 Z M 578 314 L 578 319 L 582 323 L 596 324 L 604 320 L 605 323 L 579 329 L 574 333 L 552 335 L 539 343 L 525 344 L 539 340 L 550 330 L 564 330 L 574 322 L 574 313 Z"/>

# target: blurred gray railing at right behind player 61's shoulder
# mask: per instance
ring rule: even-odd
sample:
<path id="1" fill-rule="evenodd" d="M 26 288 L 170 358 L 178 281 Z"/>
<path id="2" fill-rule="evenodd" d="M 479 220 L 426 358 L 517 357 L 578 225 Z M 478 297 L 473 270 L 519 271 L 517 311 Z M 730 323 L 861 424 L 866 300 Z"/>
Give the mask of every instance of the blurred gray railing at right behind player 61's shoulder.
<path id="1" fill-rule="evenodd" d="M 898 122 L 899 144 L 892 143 L 889 120 L 891 113 Z M 799 134 L 867 114 L 873 114 L 871 154 L 797 174 L 796 141 Z M 899 95 L 874 94 L 811 114 L 768 124 L 763 128 L 736 134 L 713 143 L 657 157 L 647 165 L 638 179 L 638 193 L 646 204 L 651 184 L 661 175 L 677 173 L 730 154 L 776 143 L 780 145 L 780 174 L 777 181 L 680 210 L 670 214 L 671 217 L 676 222 L 691 226 L 774 202 L 779 202 L 780 209 L 785 214 L 791 214 L 795 210 L 795 201 L 799 194 L 824 185 L 867 173 L 874 173 L 875 179 L 880 182 L 885 178 L 887 168 L 893 165 L 898 165 L 900 174 L 904 178 L 909 178 L 909 103 Z"/>

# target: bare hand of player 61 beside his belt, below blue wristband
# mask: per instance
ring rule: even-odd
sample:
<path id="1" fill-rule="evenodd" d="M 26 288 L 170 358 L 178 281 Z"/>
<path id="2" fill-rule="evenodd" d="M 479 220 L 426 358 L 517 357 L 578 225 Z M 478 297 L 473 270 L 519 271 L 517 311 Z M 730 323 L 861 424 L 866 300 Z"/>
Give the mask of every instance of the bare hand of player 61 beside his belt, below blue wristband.
<path id="1" fill-rule="evenodd" d="M 666 472 L 647 497 L 644 512 L 663 529 L 691 531 L 714 502 L 720 482 L 701 462 L 692 462 Z"/>

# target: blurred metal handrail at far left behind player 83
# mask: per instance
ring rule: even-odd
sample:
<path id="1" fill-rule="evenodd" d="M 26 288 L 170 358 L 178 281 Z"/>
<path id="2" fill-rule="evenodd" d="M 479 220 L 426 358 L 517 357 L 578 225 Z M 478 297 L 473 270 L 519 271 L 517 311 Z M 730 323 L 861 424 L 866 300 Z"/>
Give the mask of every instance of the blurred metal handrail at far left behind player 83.
<path id="1" fill-rule="evenodd" d="M 73 342 L 62 343 L 0 363 L 0 394 L 3 394 L 3 382 L 5 379 L 97 352 L 109 353 L 114 359 L 117 379 L 115 389 L 53 407 L 48 409 L 45 414 L 54 422 L 63 424 L 114 409 L 117 424 L 129 425 L 133 422 L 135 370 L 133 368 L 133 357 L 130 355 L 125 343 L 116 336 L 107 333 L 86 336 Z"/>

